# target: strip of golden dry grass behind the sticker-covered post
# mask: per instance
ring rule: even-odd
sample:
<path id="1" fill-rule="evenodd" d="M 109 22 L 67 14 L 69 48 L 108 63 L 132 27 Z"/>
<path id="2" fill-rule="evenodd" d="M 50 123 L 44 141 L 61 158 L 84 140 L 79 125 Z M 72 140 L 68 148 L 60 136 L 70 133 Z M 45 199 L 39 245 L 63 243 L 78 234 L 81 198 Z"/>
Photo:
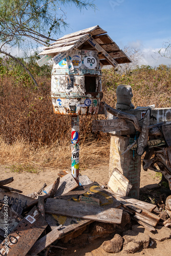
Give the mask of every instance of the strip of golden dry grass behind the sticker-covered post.
<path id="1" fill-rule="evenodd" d="M 80 146 L 80 167 L 87 168 L 90 165 L 102 164 L 109 158 L 109 143 L 92 141 Z M 44 167 L 68 168 L 71 165 L 71 147 L 67 142 L 51 146 L 35 148 L 26 141 L 15 141 L 7 144 L 0 141 L 0 163 L 19 163 L 42 169 Z"/>

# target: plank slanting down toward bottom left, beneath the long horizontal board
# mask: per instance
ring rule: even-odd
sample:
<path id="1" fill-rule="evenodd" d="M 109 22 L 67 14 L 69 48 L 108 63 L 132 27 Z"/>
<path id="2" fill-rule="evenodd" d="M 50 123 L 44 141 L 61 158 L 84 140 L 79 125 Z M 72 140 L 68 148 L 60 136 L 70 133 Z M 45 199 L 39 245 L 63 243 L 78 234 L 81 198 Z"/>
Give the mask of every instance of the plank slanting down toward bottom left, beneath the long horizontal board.
<path id="1" fill-rule="evenodd" d="M 80 220 L 78 218 L 77 219 L 67 218 L 67 219 L 69 219 L 70 222 L 63 224 L 63 226 L 60 228 L 61 230 L 58 230 L 58 227 L 56 227 L 51 232 L 49 232 L 45 237 L 40 238 L 29 251 L 29 255 L 35 255 L 39 253 L 40 251 L 45 249 L 48 245 L 52 244 L 57 239 L 65 237 L 67 234 L 70 234 L 92 223 L 92 221 L 90 220 Z"/>

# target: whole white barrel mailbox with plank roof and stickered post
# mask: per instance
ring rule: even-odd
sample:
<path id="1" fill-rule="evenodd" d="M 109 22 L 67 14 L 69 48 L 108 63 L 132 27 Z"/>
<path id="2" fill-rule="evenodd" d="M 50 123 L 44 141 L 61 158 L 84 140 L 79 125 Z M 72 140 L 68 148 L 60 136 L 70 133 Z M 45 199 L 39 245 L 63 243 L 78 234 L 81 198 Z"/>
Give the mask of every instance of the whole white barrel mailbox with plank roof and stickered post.
<path id="1" fill-rule="evenodd" d="M 99 112 L 102 99 L 101 68 L 131 60 L 99 26 L 59 38 L 39 55 L 39 66 L 54 65 L 51 97 L 55 114 L 71 115 L 72 175 L 79 182 L 79 115 Z"/>

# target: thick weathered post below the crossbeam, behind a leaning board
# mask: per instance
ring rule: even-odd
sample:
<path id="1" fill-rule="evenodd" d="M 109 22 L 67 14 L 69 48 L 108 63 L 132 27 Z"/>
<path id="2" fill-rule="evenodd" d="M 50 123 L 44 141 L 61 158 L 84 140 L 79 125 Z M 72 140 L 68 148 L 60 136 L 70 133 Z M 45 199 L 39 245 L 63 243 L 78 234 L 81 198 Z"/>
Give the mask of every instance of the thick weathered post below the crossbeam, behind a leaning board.
<path id="1" fill-rule="evenodd" d="M 129 137 L 111 136 L 109 174 L 111 177 L 114 168 L 117 168 L 133 186 L 130 190 L 129 197 L 139 199 L 141 156 L 138 156 L 133 150 L 121 156 L 129 144 Z"/>

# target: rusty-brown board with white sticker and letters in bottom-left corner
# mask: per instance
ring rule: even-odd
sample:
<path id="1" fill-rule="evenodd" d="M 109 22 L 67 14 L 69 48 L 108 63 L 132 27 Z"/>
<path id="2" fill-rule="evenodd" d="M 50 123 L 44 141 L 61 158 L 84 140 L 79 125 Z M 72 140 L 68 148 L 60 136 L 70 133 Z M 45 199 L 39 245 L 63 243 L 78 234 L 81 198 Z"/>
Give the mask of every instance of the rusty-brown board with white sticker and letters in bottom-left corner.
<path id="1" fill-rule="evenodd" d="M 9 250 L 6 251 L 6 241 L 4 240 L 0 245 L 0 252 L 2 255 L 8 256 L 25 256 L 47 225 L 44 217 L 34 206 L 6 238 Z"/>

